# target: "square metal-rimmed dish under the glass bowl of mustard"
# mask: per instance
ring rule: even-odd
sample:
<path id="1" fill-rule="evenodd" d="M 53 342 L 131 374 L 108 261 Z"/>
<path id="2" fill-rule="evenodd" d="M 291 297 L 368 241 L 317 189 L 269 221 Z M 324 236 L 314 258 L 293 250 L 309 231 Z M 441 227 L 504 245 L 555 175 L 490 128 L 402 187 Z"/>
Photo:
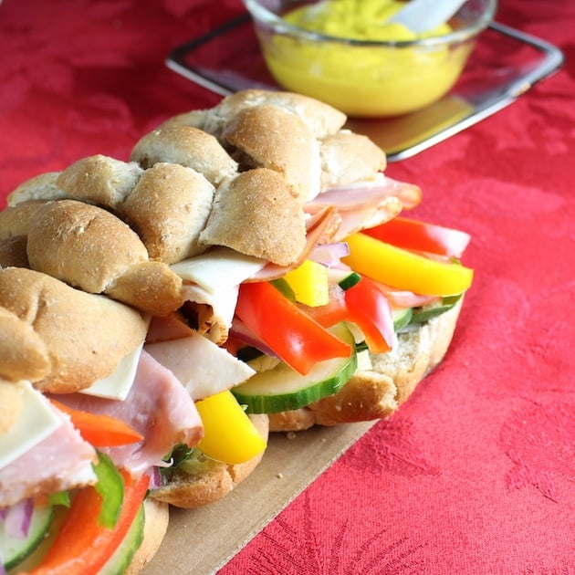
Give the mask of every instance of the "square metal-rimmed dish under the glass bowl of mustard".
<path id="1" fill-rule="evenodd" d="M 403 160 L 505 108 L 563 61 L 559 48 L 493 22 L 479 36 L 464 73 L 444 98 L 395 118 L 350 118 L 348 127 L 375 141 L 389 162 Z M 280 89 L 267 72 L 248 14 L 176 47 L 166 64 L 222 96 L 248 88 Z"/>

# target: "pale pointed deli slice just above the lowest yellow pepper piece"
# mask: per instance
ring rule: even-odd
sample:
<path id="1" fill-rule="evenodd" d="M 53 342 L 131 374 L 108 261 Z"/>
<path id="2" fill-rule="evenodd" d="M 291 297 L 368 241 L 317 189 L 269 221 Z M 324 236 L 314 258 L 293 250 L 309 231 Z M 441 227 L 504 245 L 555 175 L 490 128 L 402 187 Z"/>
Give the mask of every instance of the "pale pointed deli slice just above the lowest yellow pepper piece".
<path id="1" fill-rule="evenodd" d="M 256 371 L 200 334 L 180 340 L 149 343 L 145 350 L 172 371 L 193 401 L 245 382 Z"/>

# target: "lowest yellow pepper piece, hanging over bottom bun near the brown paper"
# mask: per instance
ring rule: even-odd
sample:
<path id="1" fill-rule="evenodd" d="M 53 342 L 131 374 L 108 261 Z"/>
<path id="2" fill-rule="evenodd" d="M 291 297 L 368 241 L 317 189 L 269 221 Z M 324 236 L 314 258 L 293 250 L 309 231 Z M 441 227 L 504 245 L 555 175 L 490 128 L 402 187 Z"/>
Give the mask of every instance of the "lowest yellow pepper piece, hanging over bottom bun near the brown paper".
<path id="1" fill-rule="evenodd" d="M 216 393 L 195 406 L 204 423 L 204 437 L 196 447 L 205 455 L 227 464 L 240 464 L 266 449 L 266 440 L 231 392 Z"/>

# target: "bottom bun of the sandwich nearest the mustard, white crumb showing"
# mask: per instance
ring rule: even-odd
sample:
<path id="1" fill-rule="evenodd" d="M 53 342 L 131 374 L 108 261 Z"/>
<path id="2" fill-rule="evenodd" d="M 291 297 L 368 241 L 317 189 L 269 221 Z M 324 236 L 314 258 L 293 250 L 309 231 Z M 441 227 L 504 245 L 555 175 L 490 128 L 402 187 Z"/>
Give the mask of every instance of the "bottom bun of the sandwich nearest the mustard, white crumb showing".
<path id="1" fill-rule="evenodd" d="M 271 413 L 270 432 L 302 431 L 313 425 L 339 425 L 383 419 L 394 413 L 425 375 L 444 359 L 462 300 L 442 315 L 398 334 L 388 353 L 370 354 L 371 370 L 358 371 L 337 393 L 308 407 Z"/>

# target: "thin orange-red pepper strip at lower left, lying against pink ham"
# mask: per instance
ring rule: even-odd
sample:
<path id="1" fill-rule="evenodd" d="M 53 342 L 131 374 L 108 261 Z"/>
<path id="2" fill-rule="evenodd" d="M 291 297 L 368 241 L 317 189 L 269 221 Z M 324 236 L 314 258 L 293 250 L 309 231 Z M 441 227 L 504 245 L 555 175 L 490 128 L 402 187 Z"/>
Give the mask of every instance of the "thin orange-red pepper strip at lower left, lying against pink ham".
<path id="1" fill-rule="evenodd" d="M 50 402 L 61 412 L 68 413 L 79 434 L 94 447 L 135 444 L 143 439 L 142 434 L 116 417 L 73 409 L 53 399 Z"/>

